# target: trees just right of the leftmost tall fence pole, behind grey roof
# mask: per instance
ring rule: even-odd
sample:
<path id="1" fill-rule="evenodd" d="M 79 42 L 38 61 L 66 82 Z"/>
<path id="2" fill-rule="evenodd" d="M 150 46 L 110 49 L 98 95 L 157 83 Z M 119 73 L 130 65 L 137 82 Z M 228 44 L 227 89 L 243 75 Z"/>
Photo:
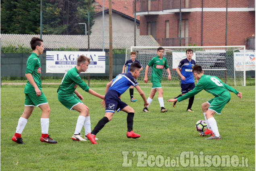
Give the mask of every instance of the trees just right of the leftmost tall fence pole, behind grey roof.
<path id="1" fill-rule="evenodd" d="M 87 0 L 50 0 L 43 3 L 43 33 L 54 35 L 85 34 L 88 21 Z M 90 2 L 90 28 L 94 25 L 94 6 Z"/>

